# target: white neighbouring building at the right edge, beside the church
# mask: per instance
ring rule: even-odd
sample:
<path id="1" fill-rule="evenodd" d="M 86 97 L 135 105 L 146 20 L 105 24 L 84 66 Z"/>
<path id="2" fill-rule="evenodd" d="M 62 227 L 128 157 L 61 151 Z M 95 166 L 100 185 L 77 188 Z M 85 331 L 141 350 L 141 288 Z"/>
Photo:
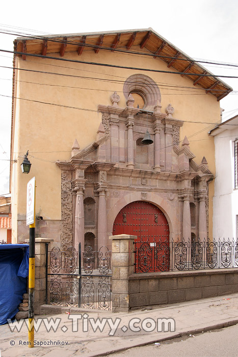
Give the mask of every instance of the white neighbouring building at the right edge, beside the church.
<path id="1" fill-rule="evenodd" d="M 238 115 L 209 132 L 214 136 L 216 177 L 213 237 L 238 237 Z"/>

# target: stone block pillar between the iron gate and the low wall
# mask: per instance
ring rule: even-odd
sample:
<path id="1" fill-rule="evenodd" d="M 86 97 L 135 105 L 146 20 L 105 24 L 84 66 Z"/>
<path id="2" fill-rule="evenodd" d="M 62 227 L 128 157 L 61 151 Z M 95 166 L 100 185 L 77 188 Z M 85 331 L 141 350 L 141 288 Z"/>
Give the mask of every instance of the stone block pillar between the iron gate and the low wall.
<path id="1" fill-rule="evenodd" d="M 129 276 L 135 271 L 133 242 L 137 236 L 120 234 L 112 239 L 112 311 L 129 311 Z"/>

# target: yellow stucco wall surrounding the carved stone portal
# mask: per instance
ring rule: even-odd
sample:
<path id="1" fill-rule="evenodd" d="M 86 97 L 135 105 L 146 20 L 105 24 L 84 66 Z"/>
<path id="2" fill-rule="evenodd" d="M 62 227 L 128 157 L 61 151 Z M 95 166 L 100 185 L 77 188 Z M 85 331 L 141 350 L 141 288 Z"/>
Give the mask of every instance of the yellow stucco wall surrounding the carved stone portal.
<path id="1" fill-rule="evenodd" d="M 60 58 L 59 54 L 53 56 Z M 66 53 L 64 59 L 175 71 L 173 68 L 168 69 L 165 62 L 152 57 L 103 50 L 98 54 L 84 50 L 82 56 Z M 138 72 L 148 75 L 158 84 L 162 112 L 171 103 L 175 109 L 173 117 L 184 121 L 180 138 L 183 139 L 185 135 L 188 137 L 191 151 L 196 156 L 194 161 L 200 164 L 205 156 L 209 169 L 215 174 L 214 141 L 208 137 L 207 132 L 214 126 L 210 123 L 220 120 L 220 105 L 215 96 L 205 94 L 199 86 L 194 87 L 188 78 L 177 74 L 141 72 L 28 56 L 26 61 L 18 59 L 18 67 L 67 75 L 18 71 L 15 94 L 21 99 L 16 100 L 15 110 L 15 134 L 18 133 L 18 137 L 13 142 L 13 159 L 18 158 L 18 163 L 13 164 L 12 171 L 13 216 L 25 217 L 27 182 L 36 176 L 36 213 L 41 211 L 40 215 L 44 219 L 61 219 L 61 170 L 55 162 L 70 159 L 75 138 L 81 149 L 95 140 L 101 121 L 101 114 L 97 113 L 98 105 L 111 105 L 110 96 L 117 91 L 121 97 L 119 106 L 125 107 L 124 81 Z M 165 85 L 175 87 L 167 88 Z M 196 89 L 181 89 L 176 86 Z M 58 104 L 61 107 L 38 102 Z M 81 110 L 82 108 L 87 110 Z M 27 150 L 32 163 L 28 175 L 21 173 L 22 158 L 19 158 Z M 210 236 L 213 194 L 214 185 L 211 183 Z"/>

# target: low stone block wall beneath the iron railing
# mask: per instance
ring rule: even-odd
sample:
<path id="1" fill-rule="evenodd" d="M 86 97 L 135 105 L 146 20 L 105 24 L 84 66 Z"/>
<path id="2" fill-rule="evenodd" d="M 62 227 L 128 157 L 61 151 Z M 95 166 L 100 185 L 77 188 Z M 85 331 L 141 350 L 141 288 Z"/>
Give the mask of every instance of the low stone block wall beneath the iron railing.
<path id="1" fill-rule="evenodd" d="M 129 308 L 170 304 L 238 292 L 238 268 L 132 274 Z"/>

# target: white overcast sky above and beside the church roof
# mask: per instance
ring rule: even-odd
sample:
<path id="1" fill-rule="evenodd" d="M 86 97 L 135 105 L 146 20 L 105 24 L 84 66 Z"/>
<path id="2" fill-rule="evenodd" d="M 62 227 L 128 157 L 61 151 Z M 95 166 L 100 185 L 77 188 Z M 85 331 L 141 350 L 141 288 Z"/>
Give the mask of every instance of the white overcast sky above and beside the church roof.
<path id="1" fill-rule="evenodd" d="M 104 32 L 151 27 L 194 59 L 238 65 L 238 2 L 236 0 L 45 1 L 4 2 L 0 49 L 13 50 L 19 34 Z M 0 195 L 9 193 L 12 55 L 0 52 Z M 203 65 L 216 75 L 238 77 L 238 67 Z M 238 114 L 238 79 L 222 78 L 234 93 L 220 101 L 226 120 Z M 237 93 L 235 92 L 237 91 Z M 9 97 L 6 97 L 9 96 Z M 19 158 L 20 165 L 22 158 Z"/>

